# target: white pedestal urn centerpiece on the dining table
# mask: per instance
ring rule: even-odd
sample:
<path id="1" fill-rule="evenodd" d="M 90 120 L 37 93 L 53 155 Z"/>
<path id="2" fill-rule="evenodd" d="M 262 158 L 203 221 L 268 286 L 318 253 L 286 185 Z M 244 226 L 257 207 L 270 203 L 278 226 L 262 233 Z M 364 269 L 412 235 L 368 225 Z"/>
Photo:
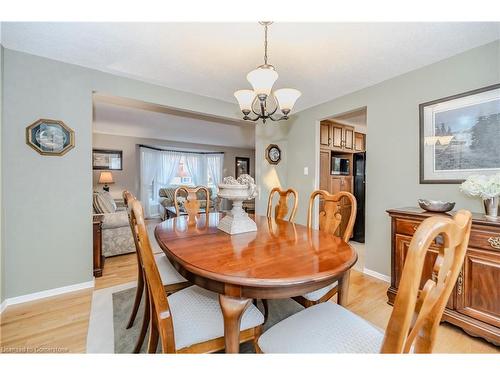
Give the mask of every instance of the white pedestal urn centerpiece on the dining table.
<path id="1" fill-rule="evenodd" d="M 225 177 L 217 195 L 233 202 L 233 208 L 221 219 L 218 229 L 229 234 L 257 231 L 257 224 L 243 209 L 243 201 L 257 196 L 257 186 L 250 175 L 242 174 L 238 179 Z"/>

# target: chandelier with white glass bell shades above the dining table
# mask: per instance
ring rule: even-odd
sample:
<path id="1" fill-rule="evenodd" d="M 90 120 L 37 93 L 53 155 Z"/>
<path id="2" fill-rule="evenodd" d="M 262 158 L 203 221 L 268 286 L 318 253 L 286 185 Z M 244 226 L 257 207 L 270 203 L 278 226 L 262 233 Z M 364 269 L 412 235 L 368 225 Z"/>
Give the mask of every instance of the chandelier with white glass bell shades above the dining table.
<path id="1" fill-rule="evenodd" d="M 287 120 L 295 102 L 302 94 L 299 90 L 289 88 L 272 91 L 274 82 L 278 79 L 274 66 L 267 63 L 267 28 L 272 22 L 259 23 L 264 26 L 264 64 L 247 74 L 247 80 L 253 90 L 238 90 L 234 96 L 243 112 L 243 120 L 262 119 L 263 123 L 266 123 L 267 119 Z M 278 109 L 281 114 L 276 113 Z"/>

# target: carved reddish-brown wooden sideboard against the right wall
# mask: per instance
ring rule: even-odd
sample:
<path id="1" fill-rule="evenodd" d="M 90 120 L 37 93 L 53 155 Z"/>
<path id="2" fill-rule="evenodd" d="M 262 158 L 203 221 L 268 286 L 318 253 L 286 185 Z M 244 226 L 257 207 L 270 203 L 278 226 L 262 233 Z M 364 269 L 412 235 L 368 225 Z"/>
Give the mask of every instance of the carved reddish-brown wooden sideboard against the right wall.
<path id="1" fill-rule="evenodd" d="M 410 241 L 418 225 L 433 214 L 409 207 L 387 211 L 391 217 L 391 286 L 389 303 L 394 302 Z M 453 214 L 453 212 L 451 213 Z M 429 248 L 421 287 L 432 277 L 441 239 Z M 473 214 L 469 246 L 462 271 L 446 305 L 443 321 L 462 328 L 472 336 L 500 345 L 500 220 Z"/>

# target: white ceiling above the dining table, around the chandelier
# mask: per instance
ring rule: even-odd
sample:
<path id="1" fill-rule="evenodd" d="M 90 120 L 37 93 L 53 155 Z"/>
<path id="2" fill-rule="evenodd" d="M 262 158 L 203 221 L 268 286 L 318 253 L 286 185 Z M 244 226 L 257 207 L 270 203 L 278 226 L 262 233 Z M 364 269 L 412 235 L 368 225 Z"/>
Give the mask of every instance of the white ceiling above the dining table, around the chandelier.
<path id="1" fill-rule="evenodd" d="M 297 110 L 500 39 L 500 23 L 276 23 L 269 62 Z M 3 23 L 5 47 L 236 105 L 263 60 L 258 23 Z"/>

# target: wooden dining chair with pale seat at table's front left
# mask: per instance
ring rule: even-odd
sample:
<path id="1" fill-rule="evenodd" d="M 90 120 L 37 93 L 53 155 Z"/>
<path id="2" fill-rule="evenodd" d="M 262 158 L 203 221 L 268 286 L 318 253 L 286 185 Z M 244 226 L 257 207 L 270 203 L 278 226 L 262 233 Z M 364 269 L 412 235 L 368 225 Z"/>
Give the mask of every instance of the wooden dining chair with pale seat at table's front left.
<path id="1" fill-rule="evenodd" d="M 158 341 L 162 353 L 211 353 L 224 349 L 224 319 L 218 294 L 193 285 L 167 296 L 141 203 L 134 200 L 131 206 L 130 216 L 149 293 L 148 353 L 156 353 Z M 253 341 L 256 345 L 263 322 L 261 312 L 250 304 L 241 318 L 240 342 Z"/>

